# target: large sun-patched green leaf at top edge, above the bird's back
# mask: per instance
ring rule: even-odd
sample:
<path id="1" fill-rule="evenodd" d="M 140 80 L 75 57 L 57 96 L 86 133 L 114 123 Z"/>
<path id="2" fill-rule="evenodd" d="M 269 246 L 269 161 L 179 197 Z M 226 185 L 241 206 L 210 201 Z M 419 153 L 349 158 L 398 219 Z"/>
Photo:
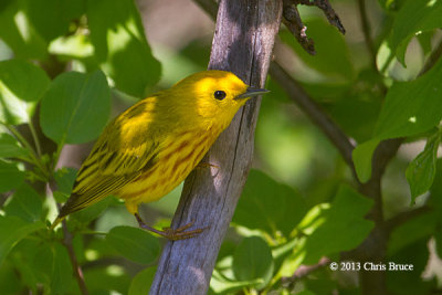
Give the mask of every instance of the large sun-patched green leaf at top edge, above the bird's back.
<path id="1" fill-rule="evenodd" d="M 87 20 L 95 56 L 115 86 L 133 96 L 160 77 L 160 64 L 147 43 L 133 0 L 88 0 Z"/>

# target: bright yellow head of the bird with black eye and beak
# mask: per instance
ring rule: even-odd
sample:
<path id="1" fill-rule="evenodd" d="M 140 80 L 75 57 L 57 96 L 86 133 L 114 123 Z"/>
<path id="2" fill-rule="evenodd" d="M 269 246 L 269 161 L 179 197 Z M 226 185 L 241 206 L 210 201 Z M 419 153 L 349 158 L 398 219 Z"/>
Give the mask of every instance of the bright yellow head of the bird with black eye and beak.
<path id="1" fill-rule="evenodd" d="M 178 95 L 189 115 L 194 116 L 194 124 L 222 129 L 229 126 L 238 109 L 249 98 L 267 93 L 266 89 L 253 88 L 236 75 L 225 71 L 203 71 L 192 74 L 171 88 Z M 186 108 L 186 107 L 182 107 Z"/>

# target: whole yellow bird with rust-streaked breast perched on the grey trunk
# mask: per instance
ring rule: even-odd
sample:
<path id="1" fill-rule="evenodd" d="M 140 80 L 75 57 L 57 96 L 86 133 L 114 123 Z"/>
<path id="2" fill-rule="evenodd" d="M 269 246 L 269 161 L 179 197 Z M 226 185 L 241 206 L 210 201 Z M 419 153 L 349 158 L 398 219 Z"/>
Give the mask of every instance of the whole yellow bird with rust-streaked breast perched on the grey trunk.
<path id="1" fill-rule="evenodd" d="M 238 109 L 265 92 L 230 72 L 203 71 L 129 107 L 96 141 L 52 228 L 67 214 L 116 194 L 144 229 L 171 240 L 198 234 L 201 230 L 185 231 L 191 224 L 175 231 L 150 228 L 139 217 L 138 204 L 156 201 L 177 187 Z"/>

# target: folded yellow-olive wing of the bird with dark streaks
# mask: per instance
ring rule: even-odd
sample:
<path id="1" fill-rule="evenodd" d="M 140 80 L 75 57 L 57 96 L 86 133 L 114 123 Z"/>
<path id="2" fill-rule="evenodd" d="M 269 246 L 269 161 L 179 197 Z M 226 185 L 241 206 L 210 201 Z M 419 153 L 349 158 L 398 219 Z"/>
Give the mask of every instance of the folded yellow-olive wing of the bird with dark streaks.
<path id="1" fill-rule="evenodd" d="M 130 120 L 126 113 L 106 127 L 83 162 L 59 218 L 118 191 L 156 164 L 161 141 L 158 130 L 149 120 Z"/>

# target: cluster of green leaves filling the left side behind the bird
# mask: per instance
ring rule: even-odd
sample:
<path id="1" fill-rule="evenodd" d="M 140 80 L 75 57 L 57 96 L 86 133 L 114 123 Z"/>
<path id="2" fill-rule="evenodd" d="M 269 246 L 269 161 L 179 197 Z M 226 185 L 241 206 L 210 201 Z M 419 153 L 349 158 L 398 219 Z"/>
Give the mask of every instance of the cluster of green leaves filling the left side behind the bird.
<path id="1" fill-rule="evenodd" d="M 14 55 L 0 62 L 2 294 L 81 293 L 73 261 L 83 267 L 92 294 L 140 294 L 146 272 L 131 278 L 123 257 L 137 270 L 151 265 L 159 255 L 158 239 L 136 228 L 92 232 L 86 226 L 115 199 L 73 214 L 66 228 L 71 240 L 61 229 L 48 228 L 76 176 L 76 169 L 57 167 L 62 149 L 97 138 L 109 119 L 112 92 L 144 97 L 159 80 L 160 64 L 135 3 L 6 1 L 0 25 L 0 40 Z M 46 149 L 44 140 L 55 149 Z M 42 183 L 51 183 L 52 191 Z"/>

